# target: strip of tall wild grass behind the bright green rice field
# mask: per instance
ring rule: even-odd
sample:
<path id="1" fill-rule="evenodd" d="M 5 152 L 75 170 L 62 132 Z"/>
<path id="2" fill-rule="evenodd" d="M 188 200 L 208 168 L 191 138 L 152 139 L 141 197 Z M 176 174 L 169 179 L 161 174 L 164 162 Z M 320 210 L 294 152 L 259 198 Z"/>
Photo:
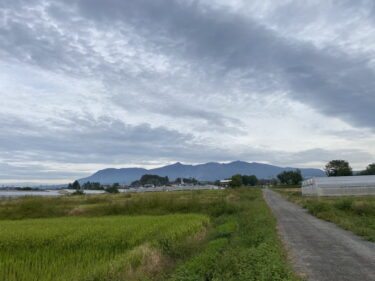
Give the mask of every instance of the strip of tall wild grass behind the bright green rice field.
<path id="1" fill-rule="evenodd" d="M 22 198 L 0 201 L 0 219 L 61 216 L 164 215 L 204 213 L 220 216 L 238 206 L 225 200 L 225 192 L 192 191 L 145 194 L 88 195 L 62 198 Z"/>

